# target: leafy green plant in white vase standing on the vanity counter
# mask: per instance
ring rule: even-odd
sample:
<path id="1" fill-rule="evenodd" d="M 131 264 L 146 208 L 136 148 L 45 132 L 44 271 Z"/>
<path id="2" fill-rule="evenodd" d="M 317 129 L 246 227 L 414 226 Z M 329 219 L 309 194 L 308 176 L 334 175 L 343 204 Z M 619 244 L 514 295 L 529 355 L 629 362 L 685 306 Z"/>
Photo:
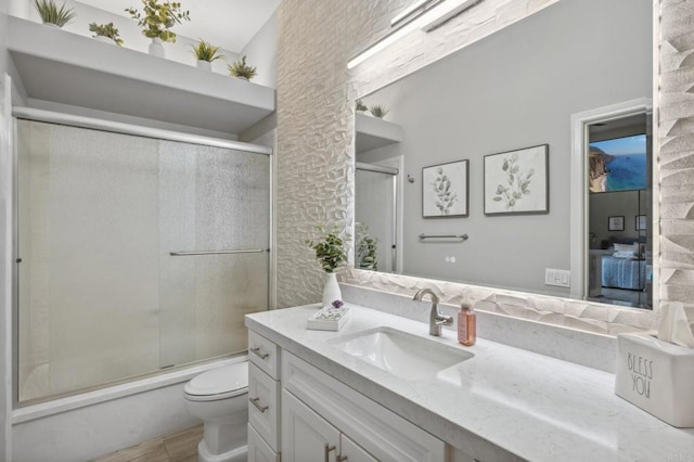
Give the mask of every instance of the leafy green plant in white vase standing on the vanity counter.
<path id="1" fill-rule="evenodd" d="M 327 274 L 325 286 L 323 287 L 323 306 L 325 307 L 331 306 L 335 300 L 342 299 L 335 271 L 347 264 L 345 243 L 349 242 L 351 236 L 346 233 L 343 234 L 337 224 L 333 224 L 331 229 L 318 226 L 316 230 L 320 233 L 320 236 L 316 240 L 306 241 L 306 243 L 316 252 L 316 258 Z"/>

